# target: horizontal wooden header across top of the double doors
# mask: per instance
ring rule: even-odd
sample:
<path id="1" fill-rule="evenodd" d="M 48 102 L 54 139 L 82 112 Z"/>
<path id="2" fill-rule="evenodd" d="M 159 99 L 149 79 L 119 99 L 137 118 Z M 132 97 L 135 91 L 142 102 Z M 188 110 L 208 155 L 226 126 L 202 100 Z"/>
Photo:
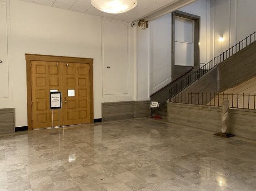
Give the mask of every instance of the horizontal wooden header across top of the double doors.
<path id="1" fill-rule="evenodd" d="M 49 62 L 71 62 L 71 63 L 86 63 L 92 64 L 93 58 L 82 58 L 82 57 L 62 57 L 52 55 L 40 55 L 40 54 L 25 54 L 26 60 L 36 61 L 49 61 Z"/>

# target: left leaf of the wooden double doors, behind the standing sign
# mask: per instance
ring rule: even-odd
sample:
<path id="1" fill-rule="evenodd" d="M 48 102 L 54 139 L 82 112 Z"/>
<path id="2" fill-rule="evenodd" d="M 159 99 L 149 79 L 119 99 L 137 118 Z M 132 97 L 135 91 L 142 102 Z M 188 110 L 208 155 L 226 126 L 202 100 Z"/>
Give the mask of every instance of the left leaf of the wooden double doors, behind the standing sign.
<path id="1" fill-rule="evenodd" d="M 33 129 L 52 126 L 50 90 L 62 91 L 61 62 L 31 61 L 32 127 Z M 60 110 L 62 119 L 62 110 Z M 59 125 L 58 110 L 54 110 L 53 125 Z M 62 120 L 60 120 L 62 125 Z"/>

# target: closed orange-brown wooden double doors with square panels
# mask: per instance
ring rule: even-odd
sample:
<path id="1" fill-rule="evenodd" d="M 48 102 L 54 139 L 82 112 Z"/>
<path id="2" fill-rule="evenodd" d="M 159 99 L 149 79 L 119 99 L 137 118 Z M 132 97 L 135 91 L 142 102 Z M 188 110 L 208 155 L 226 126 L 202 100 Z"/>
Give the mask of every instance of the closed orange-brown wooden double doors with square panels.
<path id="1" fill-rule="evenodd" d="M 59 125 L 50 110 L 50 91 L 61 91 L 60 125 L 90 123 L 90 66 L 85 63 L 30 61 L 32 129 Z"/>

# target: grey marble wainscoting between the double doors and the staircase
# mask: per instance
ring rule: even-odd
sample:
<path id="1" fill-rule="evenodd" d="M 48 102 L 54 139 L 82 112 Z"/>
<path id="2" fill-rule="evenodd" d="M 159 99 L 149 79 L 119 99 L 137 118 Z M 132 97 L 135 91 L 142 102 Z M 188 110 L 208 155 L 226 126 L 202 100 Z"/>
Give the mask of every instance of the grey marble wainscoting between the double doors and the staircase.
<path id="1" fill-rule="evenodd" d="M 146 100 L 102 103 L 102 121 L 146 117 L 150 102 L 150 100 Z"/>

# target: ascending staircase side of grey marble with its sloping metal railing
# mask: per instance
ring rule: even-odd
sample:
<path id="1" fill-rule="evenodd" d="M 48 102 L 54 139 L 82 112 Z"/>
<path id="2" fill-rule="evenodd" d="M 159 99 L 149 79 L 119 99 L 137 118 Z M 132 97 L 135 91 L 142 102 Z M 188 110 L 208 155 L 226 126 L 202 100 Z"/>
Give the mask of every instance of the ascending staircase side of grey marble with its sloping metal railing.
<path id="1" fill-rule="evenodd" d="M 182 92 L 225 91 L 256 76 L 256 32 L 213 58 L 169 91 L 169 101 Z"/>

